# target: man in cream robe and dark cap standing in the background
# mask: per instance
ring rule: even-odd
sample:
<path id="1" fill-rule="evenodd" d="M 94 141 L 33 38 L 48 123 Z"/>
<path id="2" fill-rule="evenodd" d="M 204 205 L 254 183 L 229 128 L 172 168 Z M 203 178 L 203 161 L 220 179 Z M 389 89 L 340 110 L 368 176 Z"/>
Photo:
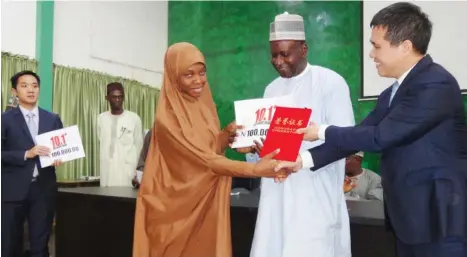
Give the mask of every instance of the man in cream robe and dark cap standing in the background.
<path id="1" fill-rule="evenodd" d="M 100 185 L 132 186 L 138 157 L 143 145 L 143 128 L 140 117 L 123 109 L 125 98 L 120 83 L 107 85 L 106 99 L 110 111 L 97 119 L 100 142 Z"/>

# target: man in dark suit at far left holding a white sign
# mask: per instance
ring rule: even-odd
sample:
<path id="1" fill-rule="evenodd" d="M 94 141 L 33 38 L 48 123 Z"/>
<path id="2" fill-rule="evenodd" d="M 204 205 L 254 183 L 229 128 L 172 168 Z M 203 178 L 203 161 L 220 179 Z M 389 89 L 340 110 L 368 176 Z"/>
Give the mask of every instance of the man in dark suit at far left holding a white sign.
<path id="1" fill-rule="evenodd" d="M 2 113 L 2 256 L 21 256 L 27 219 L 32 257 L 48 257 L 57 191 L 55 161 L 42 168 L 39 156 L 50 149 L 35 144 L 35 136 L 63 128 L 58 115 L 37 106 L 40 79 L 32 71 L 11 78 L 19 106 Z"/>

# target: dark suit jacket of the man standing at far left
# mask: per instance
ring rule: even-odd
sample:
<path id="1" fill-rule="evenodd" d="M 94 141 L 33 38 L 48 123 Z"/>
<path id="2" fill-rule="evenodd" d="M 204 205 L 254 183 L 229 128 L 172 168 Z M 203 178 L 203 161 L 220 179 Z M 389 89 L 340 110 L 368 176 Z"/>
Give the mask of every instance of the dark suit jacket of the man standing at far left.
<path id="1" fill-rule="evenodd" d="M 39 134 L 63 128 L 57 114 L 39 108 Z M 26 120 L 19 108 L 2 113 L 2 201 L 21 201 L 27 196 L 34 164 L 37 183 L 44 190 L 56 189 L 55 168 L 41 168 L 39 157 L 24 160 L 27 150 L 34 147 Z"/>

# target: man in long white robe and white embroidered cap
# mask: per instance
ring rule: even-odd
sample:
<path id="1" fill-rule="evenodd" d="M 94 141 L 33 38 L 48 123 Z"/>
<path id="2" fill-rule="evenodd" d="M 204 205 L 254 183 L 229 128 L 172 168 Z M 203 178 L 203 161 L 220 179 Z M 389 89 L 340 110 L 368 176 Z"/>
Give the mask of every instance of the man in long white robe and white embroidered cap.
<path id="1" fill-rule="evenodd" d="M 349 88 L 336 72 L 306 60 L 303 18 L 276 16 L 270 31 L 271 62 L 280 77 L 264 97 L 292 95 L 312 109 L 311 121 L 354 125 Z M 323 142 L 303 142 L 301 151 Z M 321 170 L 291 174 L 283 183 L 262 178 L 251 257 L 350 257 L 350 225 L 343 193 L 345 160 Z"/>

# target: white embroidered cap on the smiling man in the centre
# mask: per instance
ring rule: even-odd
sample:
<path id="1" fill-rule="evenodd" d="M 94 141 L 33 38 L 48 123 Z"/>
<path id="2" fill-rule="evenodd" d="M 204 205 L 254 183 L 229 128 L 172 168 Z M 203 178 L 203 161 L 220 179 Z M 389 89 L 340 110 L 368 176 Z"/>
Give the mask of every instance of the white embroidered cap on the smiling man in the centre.
<path id="1" fill-rule="evenodd" d="M 303 17 L 288 12 L 277 15 L 269 28 L 269 41 L 278 40 L 304 41 L 305 25 Z"/>

